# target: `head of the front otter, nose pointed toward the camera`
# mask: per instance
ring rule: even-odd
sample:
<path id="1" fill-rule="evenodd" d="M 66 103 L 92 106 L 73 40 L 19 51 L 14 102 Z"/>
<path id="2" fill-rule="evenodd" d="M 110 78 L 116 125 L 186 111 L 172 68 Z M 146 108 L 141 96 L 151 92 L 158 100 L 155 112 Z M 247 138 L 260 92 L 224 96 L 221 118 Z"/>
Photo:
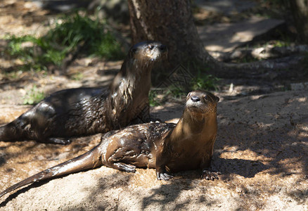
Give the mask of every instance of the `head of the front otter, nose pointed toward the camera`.
<path id="1" fill-rule="evenodd" d="M 186 110 L 191 117 L 204 117 L 205 115 L 216 115 L 219 97 L 208 91 L 191 91 L 186 97 Z"/>

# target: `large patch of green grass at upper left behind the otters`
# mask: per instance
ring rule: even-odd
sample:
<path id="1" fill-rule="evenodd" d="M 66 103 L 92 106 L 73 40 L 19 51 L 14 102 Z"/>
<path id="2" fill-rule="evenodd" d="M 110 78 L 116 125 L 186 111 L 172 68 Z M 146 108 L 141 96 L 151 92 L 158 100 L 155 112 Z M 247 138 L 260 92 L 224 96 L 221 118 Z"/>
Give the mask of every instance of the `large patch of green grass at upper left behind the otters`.
<path id="1" fill-rule="evenodd" d="M 25 69 L 46 70 L 49 64 L 60 66 L 63 59 L 74 51 L 100 56 L 108 60 L 124 58 L 120 42 L 115 39 L 107 25 L 87 15 L 65 15 L 44 36 L 8 37 L 8 53 L 20 58 Z M 22 47 L 25 42 L 30 46 Z"/>

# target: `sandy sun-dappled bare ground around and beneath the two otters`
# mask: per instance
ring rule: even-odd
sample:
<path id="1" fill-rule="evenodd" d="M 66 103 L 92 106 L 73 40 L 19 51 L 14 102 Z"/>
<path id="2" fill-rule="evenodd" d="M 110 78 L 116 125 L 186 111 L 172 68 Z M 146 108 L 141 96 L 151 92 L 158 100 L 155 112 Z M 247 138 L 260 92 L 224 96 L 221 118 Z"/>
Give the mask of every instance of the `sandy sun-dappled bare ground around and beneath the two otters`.
<path id="1" fill-rule="evenodd" d="M 31 1 L 3 2 L 4 34 L 34 33 L 41 22 L 53 18 Z M 31 24 L 26 25 L 28 19 Z M 9 27 L 12 21 L 15 27 Z M 105 85 L 122 63 L 78 58 L 68 73 L 82 75 L 80 79 L 31 71 L 8 77 L 10 67 L 19 62 L 1 58 L 0 124 L 31 107 L 23 101 L 34 84 L 45 94 Z M 158 181 L 153 169 L 126 173 L 99 167 L 6 194 L 0 198 L 0 210 L 308 210 L 308 91 L 281 91 L 287 80 L 270 81 L 222 79 L 227 85 L 214 91 L 221 98 L 212 160 L 212 167 L 222 173 L 219 180 L 206 181 L 200 172 L 189 171 Z M 288 84 L 295 82 L 303 78 L 288 79 Z M 151 108 L 151 113 L 177 122 L 183 103 L 169 101 Z M 100 134 L 76 138 L 68 146 L 0 141 L 0 191 L 89 151 L 99 139 Z"/>

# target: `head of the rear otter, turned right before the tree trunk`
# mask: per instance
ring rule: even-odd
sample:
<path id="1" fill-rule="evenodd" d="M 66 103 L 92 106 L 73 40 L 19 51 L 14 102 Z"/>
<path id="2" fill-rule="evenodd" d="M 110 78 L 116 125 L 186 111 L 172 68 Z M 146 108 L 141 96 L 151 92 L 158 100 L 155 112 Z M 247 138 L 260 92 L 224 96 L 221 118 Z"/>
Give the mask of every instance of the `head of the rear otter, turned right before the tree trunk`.
<path id="1" fill-rule="evenodd" d="M 167 53 L 167 46 L 160 41 L 142 41 L 129 49 L 131 59 L 145 64 L 165 58 Z"/>

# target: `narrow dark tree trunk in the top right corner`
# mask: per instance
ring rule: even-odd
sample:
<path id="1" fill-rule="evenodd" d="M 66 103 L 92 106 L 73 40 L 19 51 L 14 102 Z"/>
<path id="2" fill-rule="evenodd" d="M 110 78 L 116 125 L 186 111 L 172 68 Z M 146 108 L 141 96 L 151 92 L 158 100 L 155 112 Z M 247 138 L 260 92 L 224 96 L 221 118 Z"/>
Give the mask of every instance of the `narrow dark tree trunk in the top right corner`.
<path id="1" fill-rule="evenodd" d="M 292 0 L 290 1 L 290 8 L 298 37 L 308 44 L 308 0 Z"/>

